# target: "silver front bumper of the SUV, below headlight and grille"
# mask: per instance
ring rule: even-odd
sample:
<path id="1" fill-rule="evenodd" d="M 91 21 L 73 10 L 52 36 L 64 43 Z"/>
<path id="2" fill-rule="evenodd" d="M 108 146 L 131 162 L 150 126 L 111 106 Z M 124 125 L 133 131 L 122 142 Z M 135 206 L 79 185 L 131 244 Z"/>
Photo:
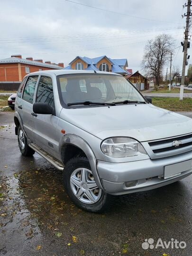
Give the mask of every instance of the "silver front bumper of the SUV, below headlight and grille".
<path id="1" fill-rule="evenodd" d="M 179 181 L 190 174 L 190 170 L 168 179 L 164 175 L 166 165 L 173 165 L 192 159 L 192 152 L 155 160 L 146 159 L 127 163 L 109 163 L 98 161 L 97 171 L 105 191 L 109 194 L 120 195 L 155 189 Z M 128 186 L 128 182 L 137 181 Z"/>

